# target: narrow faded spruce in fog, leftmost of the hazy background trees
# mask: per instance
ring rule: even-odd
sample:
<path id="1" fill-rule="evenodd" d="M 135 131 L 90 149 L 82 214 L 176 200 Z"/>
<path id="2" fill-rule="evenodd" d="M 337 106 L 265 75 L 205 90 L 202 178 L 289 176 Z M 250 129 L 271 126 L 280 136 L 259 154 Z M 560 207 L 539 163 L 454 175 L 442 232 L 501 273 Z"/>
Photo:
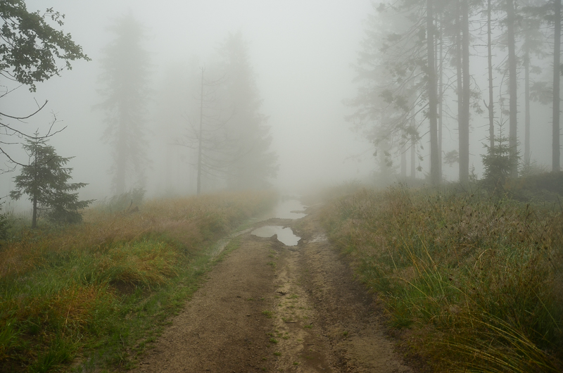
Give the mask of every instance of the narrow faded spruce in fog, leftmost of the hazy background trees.
<path id="1" fill-rule="evenodd" d="M 149 60 L 144 27 L 132 15 L 118 18 L 109 30 L 115 39 L 103 49 L 103 101 L 97 108 L 106 113 L 103 139 L 112 146 L 113 188 L 123 194 L 131 180 L 135 187 L 144 186 Z"/>

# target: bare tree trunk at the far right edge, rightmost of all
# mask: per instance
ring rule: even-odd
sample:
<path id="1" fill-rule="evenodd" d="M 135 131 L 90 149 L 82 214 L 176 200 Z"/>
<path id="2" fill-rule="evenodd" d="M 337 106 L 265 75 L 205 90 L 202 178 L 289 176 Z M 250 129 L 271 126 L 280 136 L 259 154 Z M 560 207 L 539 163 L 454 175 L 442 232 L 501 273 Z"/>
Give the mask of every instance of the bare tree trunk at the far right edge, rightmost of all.
<path id="1" fill-rule="evenodd" d="M 555 1 L 555 37 L 553 47 L 553 134 L 552 134 L 552 171 L 561 170 L 559 158 L 561 150 L 559 148 L 559 79 L 561 71 L 561 0 Z"/>

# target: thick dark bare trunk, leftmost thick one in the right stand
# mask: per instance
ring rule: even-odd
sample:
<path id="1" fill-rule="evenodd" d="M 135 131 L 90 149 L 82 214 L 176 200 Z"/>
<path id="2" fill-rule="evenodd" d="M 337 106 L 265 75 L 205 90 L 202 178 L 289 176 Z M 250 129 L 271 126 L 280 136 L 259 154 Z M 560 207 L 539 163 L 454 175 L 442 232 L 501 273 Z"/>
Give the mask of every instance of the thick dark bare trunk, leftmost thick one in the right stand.
<path id="1" fill-rule="evenodd" d="M 436 70 L 434 68 L 434 4 L 432 0 L 426 0 L 426 49 L 428 58 L 428 118 L 430 121 L 430 179 L 432 184 L 438 185 L 441 181 L 440 168 L 438 165 L 438 123 L 436 108 L 438 98 L 436 96 Z"/>

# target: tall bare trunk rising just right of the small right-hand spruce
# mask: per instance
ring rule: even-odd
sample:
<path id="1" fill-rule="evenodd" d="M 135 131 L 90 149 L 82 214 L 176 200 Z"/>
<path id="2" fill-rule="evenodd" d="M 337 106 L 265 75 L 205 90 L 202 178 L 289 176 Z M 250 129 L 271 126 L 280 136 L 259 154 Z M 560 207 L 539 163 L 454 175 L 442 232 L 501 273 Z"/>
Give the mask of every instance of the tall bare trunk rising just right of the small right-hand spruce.
<path id="1" fill-rule="evenodd" d="M 514 1 L 506 1 L 507 14 L 507 38 L 508 38 L 508 91 L 510 96 L 509 103 L 509 135 L 508 146 L 510 146 L 510 157 L 515 159 L 518 153 L 517 148 L 517 80 L 516 80 L 516 42 L 514 40 Z M 518 177 L 518 163 L 514 162 L 510 177 Z"/>

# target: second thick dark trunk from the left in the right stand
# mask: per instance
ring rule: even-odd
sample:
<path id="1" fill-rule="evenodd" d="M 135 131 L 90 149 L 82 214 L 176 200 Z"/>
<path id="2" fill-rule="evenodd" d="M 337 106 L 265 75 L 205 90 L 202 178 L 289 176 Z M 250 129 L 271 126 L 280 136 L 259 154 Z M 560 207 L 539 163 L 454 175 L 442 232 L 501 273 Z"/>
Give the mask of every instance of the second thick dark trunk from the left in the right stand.
<path id="1" fill-rule="evenodd" d="M 462 72 L 463 72 L 463 101 L 462 118 L 460 118 L 460 182 L 469 182 L 469 4 L 462 0 Z"/>

